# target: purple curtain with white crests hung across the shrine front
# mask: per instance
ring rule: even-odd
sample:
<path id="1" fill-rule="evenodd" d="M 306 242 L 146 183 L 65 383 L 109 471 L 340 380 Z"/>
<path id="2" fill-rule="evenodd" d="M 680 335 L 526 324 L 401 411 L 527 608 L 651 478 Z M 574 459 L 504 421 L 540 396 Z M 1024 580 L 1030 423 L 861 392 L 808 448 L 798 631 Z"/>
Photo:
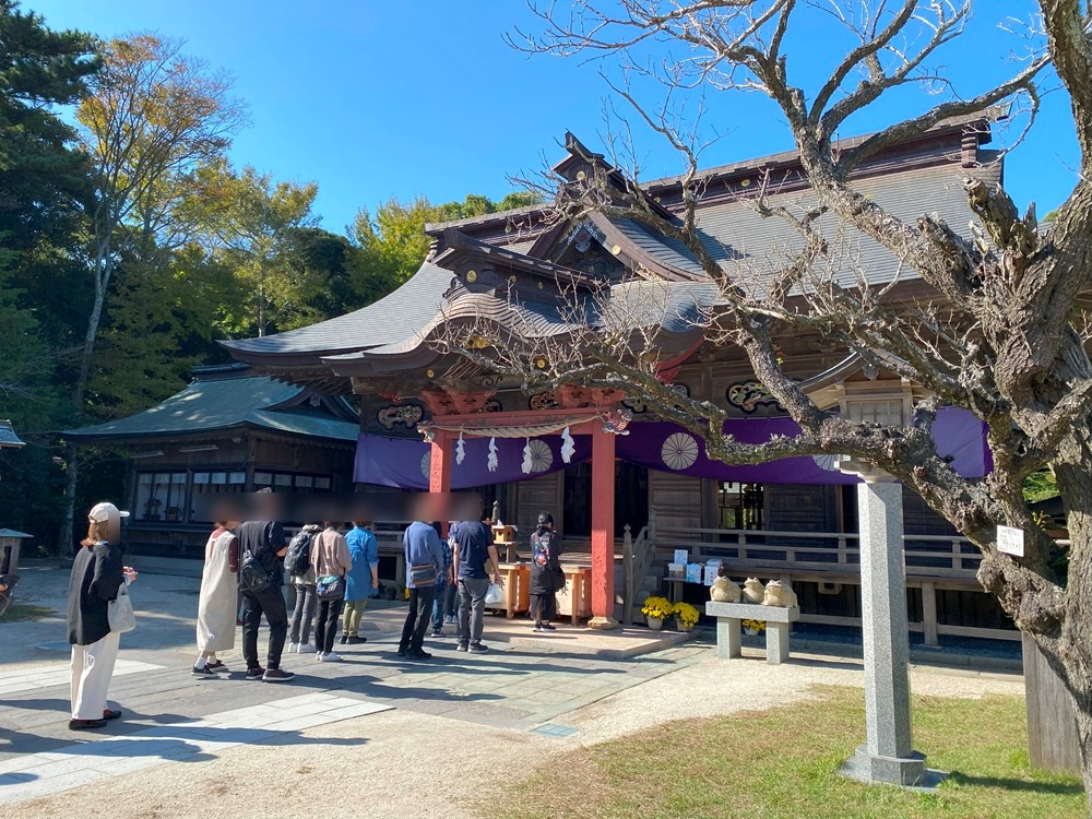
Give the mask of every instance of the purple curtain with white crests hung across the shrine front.
<path id="1" fill-rule="evenodd" d="M 841 473 L 832 456 L 807 455 L 784 458 L 763 464 L 729 466 L 705 456 L 701 439 L 668 422 L 636 422 L 629 426 L 630 435 L 619 436 L 618 458 L 641 464 L 650 470 L 676 472 L 692 477 L 716 478 L 735 483 L 761 484 L 855 484 L 853 475 Z M 791 418 L 741 418 L 729 420 L 724 431 L 746 443 L 761 443 L 776 435 L 795 436 L 799 427 Z M 937 414 L 933 435 L 937 452 L 951 456 L 952 465 L 964 477 L 981 477 L 990 466 L 986 447 L 985 424 L 965 410 L 947 408 Z M 591 456 L 591 436 L 573 435 L 575 452 L 571 463 Z M 534 449 L 532 472 L 523 472 L 524 438 L 497 438 L 496 471 L 488 468 L 489 439 L 464 438 L 465 458 L 461 464 L 452 463 L 451 488 L 467 489 L 475 486 L 505 484 L 546 475 L 563 468 L 561 437 L 539 436 L 531 439 Z M 406 438 L 383 438 L 360 435 L 356 448 L 356 466 L 353 479 L 365 484 L 379 484 L 404 489 L 428 488 L 429 444 Z"/>

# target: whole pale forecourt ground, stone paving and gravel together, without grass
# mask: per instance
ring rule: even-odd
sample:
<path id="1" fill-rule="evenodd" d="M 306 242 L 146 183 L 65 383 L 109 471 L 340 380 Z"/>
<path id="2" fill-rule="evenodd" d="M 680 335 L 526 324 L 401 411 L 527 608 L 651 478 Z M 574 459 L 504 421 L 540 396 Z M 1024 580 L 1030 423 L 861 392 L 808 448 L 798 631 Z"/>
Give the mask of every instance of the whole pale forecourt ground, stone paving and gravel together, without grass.
<path id="1" fill-rule="evenodd" d="M 195 678 L 198 581 L 144 573 L 132 590 L 139 626 L 121 639 L 110 688 L 124 716 L 74 734 L 61 616 L 68 569 L 44 562 L 21 573 L 16 603 L 58 613 L 0 622 L 0 805 L 25 816 L 86 815 L 104 800 L 114 816 L 193 816 L 209 788 L 210 807 L 234 817 L 479 816 L 483 788 L 567 749 L 669 719 L 792 702 L 816 682 L 860 684 L 853 658 L 802 654 L 771 669 L 759 649 L 745 649 L 753 662 L 724 664 L 700 640 L 604 658 L 573 650 L 578 630 L 539 637 L 500 617 L 486 620 L 487 654 L 455 652 L 440 638 L 426 641 L 431 661 L 406 662 L 394 653 L 403 609 L 366 615 L 368 642 L 339 645 L 344 663 L 286 654 L 297 677 L 285 685 L 242 679 L 238 649 L 222 654 L 232 674 Z M 640 631 L 615 639 L 661 639 Z M 1022 680 L 918 669 L 914 688 L 1020 693 Z M 353 799 L 316 800 L 344 788 Z"/>

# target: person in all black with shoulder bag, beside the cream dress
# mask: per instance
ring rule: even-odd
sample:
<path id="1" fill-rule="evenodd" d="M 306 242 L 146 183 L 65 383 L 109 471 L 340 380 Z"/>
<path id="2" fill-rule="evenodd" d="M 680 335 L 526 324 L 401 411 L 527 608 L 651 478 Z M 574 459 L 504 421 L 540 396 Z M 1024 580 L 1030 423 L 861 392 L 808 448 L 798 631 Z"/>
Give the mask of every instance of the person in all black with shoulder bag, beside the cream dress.
<path id="1" fill-rule="evenodd" d="M 296 675 L 281 667 L 285 638 L 288 636 L 288 610 L 285 607 L 281 584 L 284 582 L 284 567 L 281 558 L 288 550 L 284 541 L 284 527 L 277 521 L 247 521 L 235 530 L 239 538 L 240 561 L 246 553 L 269 573 L 269 585 L 259 592 L 242 587 L 242 658 L 247 661 L 247 679 L 266 682 L 287 682 Z M 270 627 L 270 642 L 265 654 L 265 667 L 258 662 L 258 629 L 262 615 Z"/>

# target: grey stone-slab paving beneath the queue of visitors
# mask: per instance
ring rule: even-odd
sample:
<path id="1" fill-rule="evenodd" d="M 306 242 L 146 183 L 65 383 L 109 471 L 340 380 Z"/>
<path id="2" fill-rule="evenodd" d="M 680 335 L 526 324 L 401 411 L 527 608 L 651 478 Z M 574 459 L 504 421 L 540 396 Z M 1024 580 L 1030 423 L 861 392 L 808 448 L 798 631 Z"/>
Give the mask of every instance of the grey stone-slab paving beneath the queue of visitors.
<path id="1" fill-rule="evenodd" d="M 139 627 L 121 639 L 110 685 L 111 707 L 124 715 L 102 731 L 73 734 L 68 729 L 68 645 L 59 614 L 67 582 L 63 566 L 25 571 L 21 602 L 58 614 L 0 624 L 5 645 L 0 664 L 0 804 L 153 765 L 215 759 L 226 748 L 273 737 L 307 743 L 299 734 L 306 728 L 392 709 L 565 737 L 573 733 L 563 724 L 565 714 L 696 663 L 711 651 L 688 643 L 627 658 L 589 656 L 577 653 L 578 631 L 562 626 L 553 644 L 494 641 L 487 654 L 456 652 L 452 637 L 428 639 L 432 660 L 412 662 L 395 654 L 405 609 L 387 609 L 366 615 L 366 644 L 336 646 L 345 662 L 318 663 L 313 655 L 286 653 L 282 664 L 296 673 L 290 682 L 245 679 L 238 648 L 221 653 L 230 674 L 199 678 L 190 675 L 198 580 L 142 574 L 133 594 Z M 529 628 L 487 617 L 485 638 Z M 261 651 L 264 643 L 263 628 Z"/>

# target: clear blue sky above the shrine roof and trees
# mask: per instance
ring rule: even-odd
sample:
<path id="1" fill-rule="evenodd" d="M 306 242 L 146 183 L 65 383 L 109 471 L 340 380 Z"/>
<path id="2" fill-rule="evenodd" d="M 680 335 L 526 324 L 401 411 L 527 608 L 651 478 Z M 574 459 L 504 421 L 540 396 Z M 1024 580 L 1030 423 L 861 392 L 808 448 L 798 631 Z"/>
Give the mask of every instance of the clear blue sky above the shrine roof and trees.
<path id="1" fill-rule="evenodd" d="M 1033 3 L 978 4 L 968 37 L 949 47 L 949 74 L 982 91 L 1013 71 L 1019 47 L 997 28 L 1006 15 L 1028 20 Z M 484 193 L 500 199 L 509 175 L 561 158 L 566 130 L 602 147 L 609 61 L 529 58 L 502 41 L 513 25 L 533 27 L 522 0 L 23 0 L 54 28 L 109 37 L 154 31 L 187 40 L 186 52 L 222 66 L 250 109 L 252 127 L 235 142 L 237 165 L 278 179 L 319 183 L 322 226 L 343 233 L 356 211 L 390 197 L 434 202 Z M 807 87 L 826 67 L 824 36 L 791 44 L 791 76 Z M 876 130 L 927 102 L 904 96 L 857 117 L 844 135 Z M 619 103 L 624 110 L 625 103 Z M 703 165 L 788 150 L 786 127 L 758 95 L 711 95 L 709 121 L 727 135 Z M 1048 94 L 1030 139 L 1006 165 L 1018 205 L 1042 215 L 1071 190 L 1077 167 L 1068 100 Z M 1014 134 L 1001 135 L 1010 140 Z M 680 173 L 661 138 L 638 132 L 642 178 Z"/>

